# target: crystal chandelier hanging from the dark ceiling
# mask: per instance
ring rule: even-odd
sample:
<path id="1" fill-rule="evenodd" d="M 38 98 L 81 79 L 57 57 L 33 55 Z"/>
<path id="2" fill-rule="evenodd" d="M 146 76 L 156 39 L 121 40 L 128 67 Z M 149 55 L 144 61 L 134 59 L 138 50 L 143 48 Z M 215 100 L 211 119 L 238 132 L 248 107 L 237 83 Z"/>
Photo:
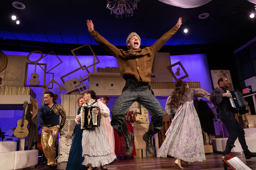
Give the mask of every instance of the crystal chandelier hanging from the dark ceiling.
<path id="1" fill-rule="evenodd" d="M 137 9 L 137 2 L 139 0 L 107 0 L 107 8 L 110 9 L 110 14 L 112 12 L 116 14 L 118 18 L 119 15 L 125 14 L 125 17 L 132 16 L 133 10 Z"/>

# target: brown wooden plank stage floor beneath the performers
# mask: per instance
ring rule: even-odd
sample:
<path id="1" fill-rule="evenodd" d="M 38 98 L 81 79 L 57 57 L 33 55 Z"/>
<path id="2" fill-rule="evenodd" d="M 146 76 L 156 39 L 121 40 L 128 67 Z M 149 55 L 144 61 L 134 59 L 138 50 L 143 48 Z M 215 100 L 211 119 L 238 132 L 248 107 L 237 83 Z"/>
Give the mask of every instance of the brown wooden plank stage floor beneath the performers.
<path id="1" fill-rule="evenodd" d="M 209 153 L 206 154 L 206 160 L 203 162 L 193 162 L 191 164 L 183 165 L 185 169 L 212 169 L 212 170 L 224 170 L 224 162 L 222 162 L 221 156 L 219 153 Z M 244 155 L 236 155 L 239 159 L 241 159 L 247 166 L 251 169 L 256 169 L 256 157 L 251 159 L 245 159 Z M 169 170 L 169 169 L 177 169 L 174 165 L 174 158 L 157 158 L 149 157 L 149 158 L 130 158 L 129 160 L 120 160 L 116 161 L 112 164 L 106 165 L 108 170 Z M 46 168 L 46 163 L 42 165 L 37 165 L 33 170 L 43 170 Z M 66 169 L 67 162 L 61 162 L 58 164 L 57 169 Z M 101 170 L 100 167 L 96 168 L 97 170 Z M 228 166 L 228 169 L 231 169 Z"/>

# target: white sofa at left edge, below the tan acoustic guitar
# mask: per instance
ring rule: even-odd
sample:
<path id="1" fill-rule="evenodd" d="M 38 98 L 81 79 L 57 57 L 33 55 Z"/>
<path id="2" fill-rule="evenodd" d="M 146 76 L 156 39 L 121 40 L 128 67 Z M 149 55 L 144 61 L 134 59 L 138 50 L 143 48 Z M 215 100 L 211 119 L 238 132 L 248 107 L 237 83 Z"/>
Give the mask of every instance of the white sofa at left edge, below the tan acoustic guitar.
<path id="1" fill-rule="evenodd" d="M 38 163 L 38 150 L 16 151 L 16 141 L 0 142 L 1 170 L 32 169 Z"/>

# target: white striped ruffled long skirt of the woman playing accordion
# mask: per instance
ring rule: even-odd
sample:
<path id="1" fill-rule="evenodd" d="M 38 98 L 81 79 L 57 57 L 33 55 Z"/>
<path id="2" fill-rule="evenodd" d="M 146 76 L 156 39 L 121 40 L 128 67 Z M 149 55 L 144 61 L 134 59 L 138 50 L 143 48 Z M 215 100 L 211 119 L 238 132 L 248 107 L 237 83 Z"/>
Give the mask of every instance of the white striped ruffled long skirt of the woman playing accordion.
<path id="1" fill-rule="evenodd" d="M 83 131 L 82 147 L 84 157 L 82 164 L 85 166 L 104 166 L 116 159 L 116 156 L 111 154 L 113 151 L 102 125 Z"/>

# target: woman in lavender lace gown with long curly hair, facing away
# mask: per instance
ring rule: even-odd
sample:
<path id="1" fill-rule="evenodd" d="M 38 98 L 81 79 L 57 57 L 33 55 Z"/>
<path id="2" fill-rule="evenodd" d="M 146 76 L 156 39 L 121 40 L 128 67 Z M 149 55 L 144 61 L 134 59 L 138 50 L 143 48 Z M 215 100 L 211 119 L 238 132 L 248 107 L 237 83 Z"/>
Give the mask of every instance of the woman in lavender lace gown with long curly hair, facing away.
<path id="1" fill-rule="evenodd" d="M 194 95 L 204 96 L 206 93 L 189 89 L 185 81 L 177 81 L 175 86 L 169 102 L 176 107 L 176 115 L 165 133 L 166 137 L 157 152 L 157 157 L 166 158 L 168 154 L 176 158 L 174 163 L 177 168 L 183 169 L 181 159 L 185 162 L 206 160 L 202 129 L 193 105 Z"/>

